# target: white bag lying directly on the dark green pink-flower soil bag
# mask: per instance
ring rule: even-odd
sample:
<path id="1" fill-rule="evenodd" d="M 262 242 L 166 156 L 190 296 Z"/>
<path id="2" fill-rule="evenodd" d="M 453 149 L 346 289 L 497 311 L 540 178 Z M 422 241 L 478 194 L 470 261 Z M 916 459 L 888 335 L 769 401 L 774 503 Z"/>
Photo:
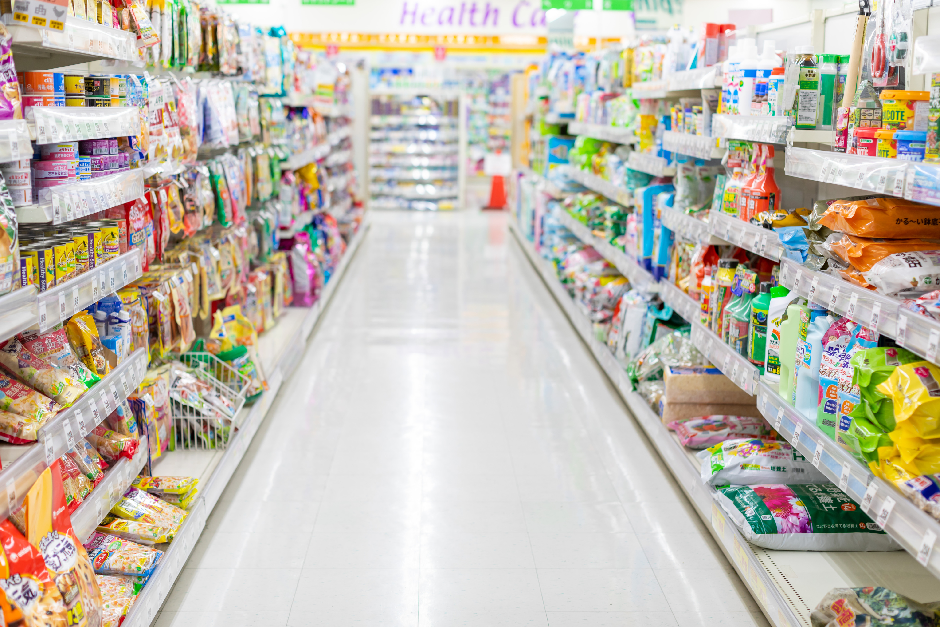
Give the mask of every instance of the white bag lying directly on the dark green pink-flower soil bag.
<path id="1" fill-rule="evenodd" d="M 698 453 L 702 480 L 710 486 L 825 483 L 825 475 L 789 442 L 729 440 Z"/>

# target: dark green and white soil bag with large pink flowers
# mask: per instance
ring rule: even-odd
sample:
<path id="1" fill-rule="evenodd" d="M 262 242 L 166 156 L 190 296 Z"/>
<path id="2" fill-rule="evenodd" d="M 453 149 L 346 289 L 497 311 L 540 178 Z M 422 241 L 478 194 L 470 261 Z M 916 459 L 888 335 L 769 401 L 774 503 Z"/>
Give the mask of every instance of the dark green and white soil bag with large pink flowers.
<path id="1" fill-rule="evenodd" d="M 729 486 L 715 493 L 744 539 L 777 551 L 898 551 L 852 499 L 831 483 Z"/>

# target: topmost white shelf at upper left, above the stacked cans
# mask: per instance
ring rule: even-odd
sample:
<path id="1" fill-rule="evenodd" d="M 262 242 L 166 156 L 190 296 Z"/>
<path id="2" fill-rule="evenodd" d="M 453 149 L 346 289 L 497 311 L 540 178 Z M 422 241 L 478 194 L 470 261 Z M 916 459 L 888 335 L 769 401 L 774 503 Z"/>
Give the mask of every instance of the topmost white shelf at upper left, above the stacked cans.
<path id="1" fill-rule="evenodd" d="M 19 53 L 16 68 L 20 72 L 52 70 L 109 59 L 143 67 L 133 32 L 71 15 L 66 16 L 62 31 L 20 25 L 11 14 L 4 15 L 3 20 L 13 37 L 13 53 Z"/>

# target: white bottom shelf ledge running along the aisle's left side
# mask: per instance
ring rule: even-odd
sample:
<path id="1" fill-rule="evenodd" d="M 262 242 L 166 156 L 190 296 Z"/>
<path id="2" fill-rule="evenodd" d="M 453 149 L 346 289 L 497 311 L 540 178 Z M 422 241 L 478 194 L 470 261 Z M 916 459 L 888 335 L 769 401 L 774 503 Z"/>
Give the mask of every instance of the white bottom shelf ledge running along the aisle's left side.
<path id="1" fill-rule="evenodd" d="M 218 503 L 228 481 L 242 461 L 258 432 L 258 427 L 274 404 L 285 378 L 290 377 L 300 361 L 303 351 L 296 348 L 305 346 L 367 232 L 368 221 L 364 221 L 360 230 L 350 240 L 346 253 L 313 307 L 288 310 L 288 314 L 278 322 L 274 330 L 259 337 L 258 350 L 267 372 L 268 389 L 254 405 L 243 409 L 237 417 L 238 431 L 229 439 L 227 448 L 167 455 L 155 462 L 155 472 L 159 474 L 197 476 L 199 494 L 189 507 L 189 516 L 180 526 L 179 532 L 150 575 L 147 586 L 137 596 L 122 625 L 149 627 L 160 611 L 186 560 L 196 547 L 196 540 L 205 527 L 207 516 Z M 2 474 L 0 485 L 3 485 Z"/>

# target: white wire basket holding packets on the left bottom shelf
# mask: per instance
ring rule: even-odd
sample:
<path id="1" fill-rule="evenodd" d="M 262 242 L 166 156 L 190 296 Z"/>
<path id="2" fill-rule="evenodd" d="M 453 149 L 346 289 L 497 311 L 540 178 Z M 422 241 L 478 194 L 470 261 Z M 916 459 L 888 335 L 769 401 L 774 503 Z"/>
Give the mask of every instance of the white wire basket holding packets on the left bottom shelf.
<path id="1" fill-rule="evenodd" d="M 196 370 L 205 402 L 182 402 L 171 390 L 171 442 L 184 449 L 226 448 L 237 429 L 235 419 L 244 407 L 249 379 L 211 353 L 184 353 L 180 362 Z"/>

